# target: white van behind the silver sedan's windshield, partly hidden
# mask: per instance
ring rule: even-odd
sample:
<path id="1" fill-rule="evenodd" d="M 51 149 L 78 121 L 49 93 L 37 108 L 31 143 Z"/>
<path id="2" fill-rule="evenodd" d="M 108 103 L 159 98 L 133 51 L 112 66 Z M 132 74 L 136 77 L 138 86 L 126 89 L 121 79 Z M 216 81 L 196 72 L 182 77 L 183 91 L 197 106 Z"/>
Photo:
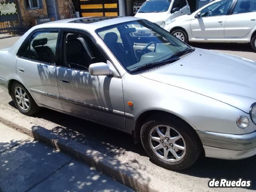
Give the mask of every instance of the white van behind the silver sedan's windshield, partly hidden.
<path id="1" fill-rule="evenodd" d="M 134 17 L 147 19 L 164 28 L 178 16 L 190 14 L 187 0 L 147 0 Z"/>

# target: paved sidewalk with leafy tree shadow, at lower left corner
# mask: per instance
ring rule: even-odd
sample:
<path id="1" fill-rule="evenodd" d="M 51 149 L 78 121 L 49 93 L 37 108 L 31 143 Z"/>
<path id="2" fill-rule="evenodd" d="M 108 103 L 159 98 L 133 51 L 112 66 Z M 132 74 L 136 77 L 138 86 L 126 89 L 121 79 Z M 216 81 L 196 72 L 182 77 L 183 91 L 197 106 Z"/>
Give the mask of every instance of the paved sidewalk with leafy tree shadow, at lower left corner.
<path id="1" fill-rule="evenodd" d="M 0 123 L 0 192 L 68 191 L 132 190 L 94 168 Z"/>

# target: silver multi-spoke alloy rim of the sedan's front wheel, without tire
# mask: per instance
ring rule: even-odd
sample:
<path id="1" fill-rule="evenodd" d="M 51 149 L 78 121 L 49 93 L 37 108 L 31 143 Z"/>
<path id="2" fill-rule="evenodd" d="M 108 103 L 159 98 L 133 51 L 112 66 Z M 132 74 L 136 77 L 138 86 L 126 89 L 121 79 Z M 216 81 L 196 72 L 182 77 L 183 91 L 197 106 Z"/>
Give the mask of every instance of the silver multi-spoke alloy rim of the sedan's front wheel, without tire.
<path id="1" fill-rule="evenodd" d="M 184 138 L 171 126 L 154 126 L 150 130 L 148 140 L 153 152 L 168 162 L 180 161 L 186 154 Z"/>

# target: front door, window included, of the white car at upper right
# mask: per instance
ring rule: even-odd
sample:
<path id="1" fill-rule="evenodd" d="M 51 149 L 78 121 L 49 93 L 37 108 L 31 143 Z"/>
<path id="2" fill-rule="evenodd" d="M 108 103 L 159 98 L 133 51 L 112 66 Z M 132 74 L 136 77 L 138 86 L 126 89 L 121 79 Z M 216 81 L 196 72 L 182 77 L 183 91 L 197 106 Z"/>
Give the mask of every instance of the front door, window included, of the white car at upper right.
<path id="1" fill-rule="evenodd" d="M 224 24 L 233 0 L 222 0 L 201 10 L 200 17 L 191 19 L 192 35 L 196 38 L 224 38 Z"/>

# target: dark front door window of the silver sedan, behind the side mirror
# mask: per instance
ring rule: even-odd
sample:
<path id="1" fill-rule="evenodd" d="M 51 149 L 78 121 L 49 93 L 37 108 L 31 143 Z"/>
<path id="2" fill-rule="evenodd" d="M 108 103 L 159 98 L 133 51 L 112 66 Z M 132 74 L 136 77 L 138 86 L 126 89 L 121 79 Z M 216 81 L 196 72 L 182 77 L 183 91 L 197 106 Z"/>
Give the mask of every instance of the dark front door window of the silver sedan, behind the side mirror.
<path id="1" fill-rule="evenodd" d="M 106 63 L 106 58 L 88 36 L 80 33 L 66 33 L 64 38 L 64 63 L 66 67 L 88 71 L 92 63 Z"/>

